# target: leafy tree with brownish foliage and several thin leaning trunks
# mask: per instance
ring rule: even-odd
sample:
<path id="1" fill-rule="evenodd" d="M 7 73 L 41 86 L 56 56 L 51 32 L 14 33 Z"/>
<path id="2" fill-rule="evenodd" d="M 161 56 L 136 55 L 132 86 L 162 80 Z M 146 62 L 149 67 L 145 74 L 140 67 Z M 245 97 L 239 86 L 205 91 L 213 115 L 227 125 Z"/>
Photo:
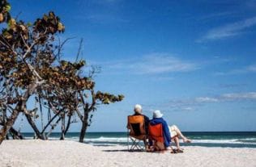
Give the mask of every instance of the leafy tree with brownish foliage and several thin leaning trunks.
<path id="1" fill-rule="evenodd" d="M 0 23 L 6 23 L 0 34 L 0 144 L 10 130 L 15 134 L 12 126 L 20 113 L 42 140 L 60 121 L 64 140 L 71 117 L 78 115 L 82 121 L 79 141 L 83 142 L 89 115 L 96 111 L 96 106 L 122 101 L 124 96 L 95 93 L 95 70 L 86 77 L 82 73 L 85 61 L 61 60 L 65 41 L 57 44 L 56 39 L 65 27 L 52 11 L 34 23 L 24 23 L 11 17 L 11 5 L 6 0 L 0 0 L 0 5 Z M 39 109 L 28 110 L 29 99 L 34 99 Z M 45 126 L 43 113 L 48 115 Z M 41 130 L 35 123 L 39 117 Z"/>

